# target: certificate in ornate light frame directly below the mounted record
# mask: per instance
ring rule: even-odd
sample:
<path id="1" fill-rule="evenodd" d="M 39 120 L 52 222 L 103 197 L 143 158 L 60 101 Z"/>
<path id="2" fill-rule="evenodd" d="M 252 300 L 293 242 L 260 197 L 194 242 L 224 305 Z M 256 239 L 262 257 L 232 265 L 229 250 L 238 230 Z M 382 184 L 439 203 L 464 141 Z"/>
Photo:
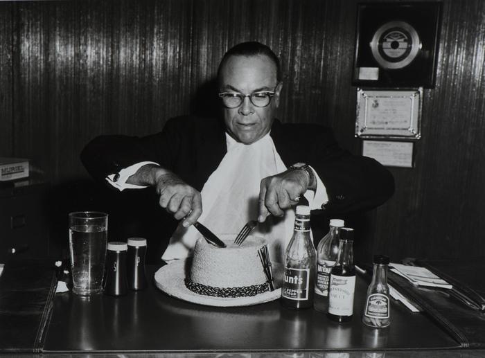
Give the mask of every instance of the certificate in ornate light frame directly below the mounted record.
<path id="1" fill-rule="evenodd" d="M 423 89 L 357 89 L 355 136 L 421 138 Z"/>

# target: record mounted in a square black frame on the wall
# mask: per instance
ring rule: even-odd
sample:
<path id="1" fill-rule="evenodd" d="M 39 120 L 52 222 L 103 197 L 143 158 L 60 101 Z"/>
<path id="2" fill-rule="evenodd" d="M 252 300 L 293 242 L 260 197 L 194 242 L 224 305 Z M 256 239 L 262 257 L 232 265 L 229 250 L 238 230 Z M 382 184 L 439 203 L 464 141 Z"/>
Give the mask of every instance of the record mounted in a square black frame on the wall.
<path id="1" fill-rule="evenodd" d="M 353 84 L 433 88 L 441 2 L 360 3 Z"/>

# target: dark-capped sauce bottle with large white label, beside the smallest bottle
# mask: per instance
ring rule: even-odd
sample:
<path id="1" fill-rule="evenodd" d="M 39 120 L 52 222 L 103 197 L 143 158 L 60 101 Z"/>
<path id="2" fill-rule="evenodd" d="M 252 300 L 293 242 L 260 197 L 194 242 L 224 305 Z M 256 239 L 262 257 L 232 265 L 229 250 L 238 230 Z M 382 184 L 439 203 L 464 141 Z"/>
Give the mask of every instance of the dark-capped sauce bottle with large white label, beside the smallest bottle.
<path id="1" fill-rule="evenodd" d="M 353 229 L 340 231 L 337 263 L 330 271 L 328 317 L 332 321 L 347 322 L 353 316 L 355 267 L 353 265 Z"/>

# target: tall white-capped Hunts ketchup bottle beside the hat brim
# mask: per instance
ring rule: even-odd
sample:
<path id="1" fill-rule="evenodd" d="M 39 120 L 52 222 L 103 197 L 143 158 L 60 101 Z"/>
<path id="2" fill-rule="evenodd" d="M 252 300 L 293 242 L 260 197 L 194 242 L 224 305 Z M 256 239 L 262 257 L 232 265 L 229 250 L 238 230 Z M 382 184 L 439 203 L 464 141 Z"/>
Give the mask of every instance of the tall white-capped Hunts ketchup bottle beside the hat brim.
<path id="1" fill-rule="evenodd" d="M 285 251 L 281 303 L 288 308 L 313 306 L 315 247 L 310 238 L 310 208 L 297 206 L 293 236 Z"/>

